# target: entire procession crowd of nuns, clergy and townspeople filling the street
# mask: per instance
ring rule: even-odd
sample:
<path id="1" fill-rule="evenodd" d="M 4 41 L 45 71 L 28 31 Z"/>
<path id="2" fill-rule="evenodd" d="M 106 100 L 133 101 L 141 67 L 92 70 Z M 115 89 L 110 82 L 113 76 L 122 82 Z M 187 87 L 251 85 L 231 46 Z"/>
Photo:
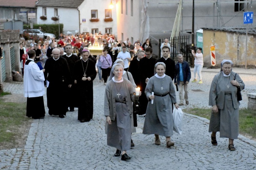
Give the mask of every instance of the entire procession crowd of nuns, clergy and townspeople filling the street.
<path id="1" fill-rule="evenodd" d="M 27 116 L 44 118 L 43 95 L 46 87 L 49 115 L 65 118 L 67 111 L 73 112 L 76 107 L 77 119 L 80 122 L 90 121 L 93 119 L 93 81 L 98 73 L 99 81 L 106 85 L 105 133 L 107 144 L 116 148 L 114 156 L 122 153 L 122 160 L 131 159 L 127 150 L 134 147 L 131 134 L 136 132 L 137 114 L 145 115 L 143 134 L 154 134 L 155 145 L 161 145 L 161 135 L 166 137 L 167 148 L 174 146 L 171 141 L 173 108 L 189 104 L 191 72 L 183 55 L 177 55 L 178 62 L 175 64 L 169 57 L 171 48 L 168 42 L 161 47 L 162 57 L 155 58 L 149 39 L 141 45 L 139 39 L 132 44 L 129 38 L 122 42 L 116 41 L 111 34 L 101 37 L 99 40 L 97 35 L 80 34 L 69 38 L 61 34 L 56 41 L 48 37 L 44 43 L 32 41 L 28 48 L 24 43 L 20 44 Z M 102 45 L 102 55 L 90 54 L 88 47 L 94 42 Z M 197 53 L 192 51 L 195 57 L 193 82 L 196 82 L 198 73 L 199 84 L 202 83 L 201 51 L 201 48 L 197 49 Z M 24 55 L 28 55 L 26 62 Z M 225 60 L 221 72 L 213 78 L 209 97 L 209 105 L 213 106 L 209 132 L 212 132 L 212 145 L 217 145 L 216 132 L 219 131 L 220 137 L 229 138 L 228 148 L 233 151 L 233 139 L 238 137 L 237 91 L 244 89 L 244 83 L 231 70 L 232 61 Z M 179 103 L 174 85 L 179 91 Z M 40 112 L 33 112 L 33 109 Z"/>

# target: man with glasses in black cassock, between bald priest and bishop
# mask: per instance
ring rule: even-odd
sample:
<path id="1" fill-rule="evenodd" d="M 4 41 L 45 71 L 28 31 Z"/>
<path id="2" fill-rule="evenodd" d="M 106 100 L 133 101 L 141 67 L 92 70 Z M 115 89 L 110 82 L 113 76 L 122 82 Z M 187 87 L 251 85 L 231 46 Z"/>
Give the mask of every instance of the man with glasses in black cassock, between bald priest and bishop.
<path id="1" fill-rule="evenodd" d="M 68 105 L 67 105 L 66 110 L 68 111 L 68 107 L 69 107 L 69 111 L 73 112 L 74 107 L 78 107 L 77 85 L 76 85 L 76 80 L 74 79 L 74 77 L 75 77 L 74 69 L 75 69 L 75 62 L 80 60 L 80 57 L 78 57 L 75 54 L 72 54 L 72 45 L 71 44 L 66 45 L 65 51 L 67 54 L 62 55 L 62 57 L 65 58 L 68 62 L 69 70 L 70 70 L 71 78 L 72 78 L 72 86 L 71 86 L 71 88 L 68 88 L 68 93 L 67 93 Z"/>

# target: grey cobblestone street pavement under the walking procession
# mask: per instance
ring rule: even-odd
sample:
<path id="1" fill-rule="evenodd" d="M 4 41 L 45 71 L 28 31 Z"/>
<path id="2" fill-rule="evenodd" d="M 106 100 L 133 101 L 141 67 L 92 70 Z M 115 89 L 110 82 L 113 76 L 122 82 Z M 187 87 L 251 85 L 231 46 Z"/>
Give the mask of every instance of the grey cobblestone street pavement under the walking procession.
<path id="1" fill-rule="evenodd" d="M 203 70 L 203 84 L 190 83 L 190 104 L 182 108 L 209 107 L 207 93 L 218 71 Z M 239 72 L 245 87 L 248 91 L 256 90 L 255 71 L 251 74 L 245 71 L 241 69 Z M 4 83 L 4 91 L 22 94 L 22 86 L 22 83 Z M 138 116 L 137 133 L 132 134 L 135 147 L 128 151 L 131 160 L 122 161 L 120 157 L 114 157 L 115 148 L 106 145 L 104 132 L 104 90 L 105 86 L 99 83 L 97 75 L 94 81 L 94 118 L 90 122 L 80 123 L 77 120 L 77 108 L 75 112 L 67 112 L 64 119 L 46 114 L 44 119 L 33 120 L 24 148 L 0 151 L 0 169 L 256 168 L 256 141 L 239 135 L 239 139 L 234 140 L 237 150 L 231 152 L 228 150 L 228 139 L 219 138 L 217 133 L 218 146 L 212 146 L 208 133 L 209 120 L 190 114 L 184 115 L 183 134 L 174 132 L 171 137 L 175 142 L 171 149 L 166 148 L 165 137 L 161 137 L 161 145 L 156 146 L 154 135 L 142 134 L 144 117 Z M 247 107 L 245 95 L 246 92 L 243 92 L 241 107 Z M 44 100 L 48 113 L 46 96 Z"/>

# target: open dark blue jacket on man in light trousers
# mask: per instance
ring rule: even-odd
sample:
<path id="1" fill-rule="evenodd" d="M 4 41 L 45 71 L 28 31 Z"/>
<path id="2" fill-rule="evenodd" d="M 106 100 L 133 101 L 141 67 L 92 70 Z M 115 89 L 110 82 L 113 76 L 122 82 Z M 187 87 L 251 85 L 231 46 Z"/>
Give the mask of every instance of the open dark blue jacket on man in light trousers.
<path id="1" fill-rule="evenodd" d="M 182 66 L 184 84 L 186 84 L 186 82 L 189 82 L 189 80 L 191 79 L 190 68 L 189 68 L 188 62 L 186 61 L 183 61 L 181 66 Z M 180 63 L 179 62 L 177 62 L 177 64 L 175 65 L 175 70 L 176 72 L 174 77 L 174 83 L 177 83 L 179 85 L 180 84 Z"/>

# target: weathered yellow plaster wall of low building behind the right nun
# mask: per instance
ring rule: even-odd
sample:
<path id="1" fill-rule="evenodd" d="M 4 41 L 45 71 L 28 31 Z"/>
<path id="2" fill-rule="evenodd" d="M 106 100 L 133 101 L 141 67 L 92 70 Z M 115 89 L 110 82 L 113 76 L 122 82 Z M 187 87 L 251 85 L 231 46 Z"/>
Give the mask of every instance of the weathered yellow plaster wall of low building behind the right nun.
<path id="1" fill-rule="evenodd" d="M 224 31 L 203 30 L 204 66 L 211 65 L 210 46 L 215 45 L 216 65 L 220 66 L 223 59 L 233 61 L 234 66 L 256 66 L 256 36 L 248 35 L 247 57 L 245 57 L 246 35 Z"/>

